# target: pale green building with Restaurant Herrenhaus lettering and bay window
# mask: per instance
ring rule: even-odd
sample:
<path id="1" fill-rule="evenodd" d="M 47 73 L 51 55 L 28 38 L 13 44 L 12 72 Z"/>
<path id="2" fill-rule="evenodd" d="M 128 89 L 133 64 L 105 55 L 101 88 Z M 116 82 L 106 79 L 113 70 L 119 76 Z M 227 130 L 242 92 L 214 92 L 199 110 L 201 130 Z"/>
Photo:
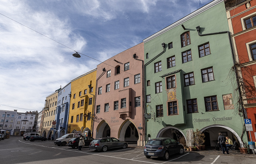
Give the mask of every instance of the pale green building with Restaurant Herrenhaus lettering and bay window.
<path id="1" fill-rule="evenodd" d="M 224 1 L 214 0 L 143 40 L 147 139 L 191 145 L 199 129 L 206 146 L 219 132 L 245 146 L 228 30 Z"/>

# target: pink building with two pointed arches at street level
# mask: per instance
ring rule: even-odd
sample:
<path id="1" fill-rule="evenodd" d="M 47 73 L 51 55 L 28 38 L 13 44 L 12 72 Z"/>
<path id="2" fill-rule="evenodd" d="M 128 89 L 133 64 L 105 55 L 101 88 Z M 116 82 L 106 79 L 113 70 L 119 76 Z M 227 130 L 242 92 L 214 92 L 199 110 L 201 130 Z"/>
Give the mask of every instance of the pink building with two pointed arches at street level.
<path id="1" fill-rule="evenodd" d="M 142 146 L 143 60 L 140 43 L 97 65 L 94 138 L 111 136 Z"/>

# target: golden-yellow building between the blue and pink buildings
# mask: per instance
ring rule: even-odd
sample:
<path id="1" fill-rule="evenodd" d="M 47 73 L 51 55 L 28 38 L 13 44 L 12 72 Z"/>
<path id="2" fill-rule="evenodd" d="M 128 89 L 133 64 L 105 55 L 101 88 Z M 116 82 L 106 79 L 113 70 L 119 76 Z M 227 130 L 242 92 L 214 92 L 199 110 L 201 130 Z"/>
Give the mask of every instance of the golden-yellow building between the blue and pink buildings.
<path id="1" fill-rule="evenodd" d="M 68 116 L 68 131 L 85 132 L 91 136 L 97 68 L 71 80 L 71 99 Z"/>

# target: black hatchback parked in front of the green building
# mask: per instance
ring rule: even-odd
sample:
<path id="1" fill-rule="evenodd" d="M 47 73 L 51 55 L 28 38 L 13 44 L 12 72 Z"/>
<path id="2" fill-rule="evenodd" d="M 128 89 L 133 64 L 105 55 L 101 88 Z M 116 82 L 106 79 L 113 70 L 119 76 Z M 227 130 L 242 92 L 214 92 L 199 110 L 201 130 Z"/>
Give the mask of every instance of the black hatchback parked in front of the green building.
<path id="1" fill-rule="evenodd" d="M 162 157 L 164 160 L 169 159 L 169 155 L 176 153 L 183 154 L 184 147 L 172 138 L 156 138 L 148 140 L 144 147 L 144 155 L 146 158 Z"/>

